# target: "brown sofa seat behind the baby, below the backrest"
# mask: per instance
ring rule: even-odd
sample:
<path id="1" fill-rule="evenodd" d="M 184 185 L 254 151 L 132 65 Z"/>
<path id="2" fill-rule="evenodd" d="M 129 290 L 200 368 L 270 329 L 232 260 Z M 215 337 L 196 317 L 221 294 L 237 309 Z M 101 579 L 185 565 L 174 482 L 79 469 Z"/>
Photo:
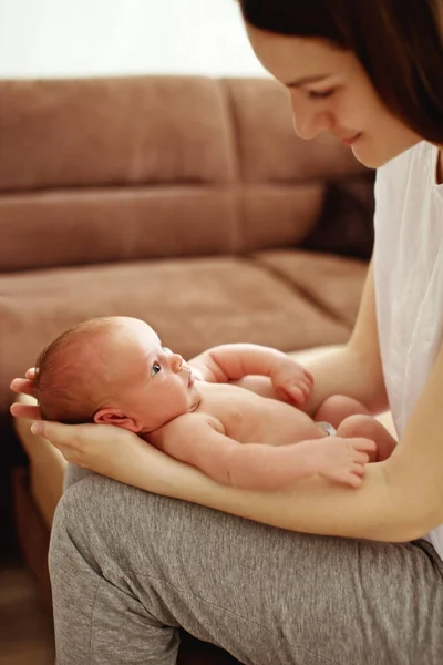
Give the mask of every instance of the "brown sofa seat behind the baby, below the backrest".
<path id="1" fill-rule="evenodd" d="M 68 327 L 111 313 L 147 320 L 185 358 L 234 341 L 285 351 L 344 342 L 365 274 L 364 262 L 274 250 L 1 275 L 3 374 L 21 376 Z M 7 382 L 1 390 L 6 410 Z"/>

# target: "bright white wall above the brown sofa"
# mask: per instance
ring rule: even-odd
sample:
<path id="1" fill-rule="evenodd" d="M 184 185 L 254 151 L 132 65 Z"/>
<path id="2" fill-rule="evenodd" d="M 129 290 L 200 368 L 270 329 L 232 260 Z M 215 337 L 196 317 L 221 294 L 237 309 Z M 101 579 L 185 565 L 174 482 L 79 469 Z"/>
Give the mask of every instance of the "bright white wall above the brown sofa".
<path id="1" fill-rule="evenodd" d="M 0 0 L 0 78 L 266 75 L 235 0 Z"/>

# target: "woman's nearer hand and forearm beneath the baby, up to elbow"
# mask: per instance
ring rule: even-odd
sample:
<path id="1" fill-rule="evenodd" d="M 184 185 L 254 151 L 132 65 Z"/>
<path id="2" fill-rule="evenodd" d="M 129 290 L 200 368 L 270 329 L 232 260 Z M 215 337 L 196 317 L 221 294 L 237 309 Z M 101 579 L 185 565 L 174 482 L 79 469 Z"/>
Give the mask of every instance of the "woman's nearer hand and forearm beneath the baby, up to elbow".
<path id="1" fill-rule="evenodd" d="M 219 484 L 122 428 L 37 422 L 33 431 L 80 467 L 148 492 L 256 522 L 306 533 L 387 541 L 420 535 L 416 526 L 403 519 L 408 514 L 401 502 L 392 501 L 385 462 L 368 464 L 358 490 L 311 478 L 287 490 L 259 492 Z"/>

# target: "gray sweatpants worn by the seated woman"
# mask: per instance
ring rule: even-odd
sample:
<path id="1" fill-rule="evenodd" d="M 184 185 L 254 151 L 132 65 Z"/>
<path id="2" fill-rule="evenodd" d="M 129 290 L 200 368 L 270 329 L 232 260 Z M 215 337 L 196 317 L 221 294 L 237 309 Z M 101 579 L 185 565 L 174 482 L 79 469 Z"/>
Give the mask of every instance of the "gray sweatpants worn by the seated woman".
<path id="1" fill-rule="evenodd" d="M 92 474 L 59 504 L 50 572 L 58 665 L 173 665 L 177 626 L 248 665 L 443 663 L 424 541 L 303 535 Z"/>

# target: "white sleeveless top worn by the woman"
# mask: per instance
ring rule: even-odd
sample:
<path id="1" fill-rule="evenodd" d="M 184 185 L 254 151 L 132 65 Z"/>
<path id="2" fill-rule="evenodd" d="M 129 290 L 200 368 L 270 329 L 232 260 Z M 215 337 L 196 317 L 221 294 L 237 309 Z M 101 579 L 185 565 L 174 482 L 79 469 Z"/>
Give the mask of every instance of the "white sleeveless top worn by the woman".
<path id="1" fill-rule="evenodd" d="M 443 185 L 436 184 L 437 156 L 435 146 L 421 142 L 379 168 L 375 182 L 377 317 L 400 438 L 443 342 Z M 426 540 L 443 559 L 443 524 Z"/>

